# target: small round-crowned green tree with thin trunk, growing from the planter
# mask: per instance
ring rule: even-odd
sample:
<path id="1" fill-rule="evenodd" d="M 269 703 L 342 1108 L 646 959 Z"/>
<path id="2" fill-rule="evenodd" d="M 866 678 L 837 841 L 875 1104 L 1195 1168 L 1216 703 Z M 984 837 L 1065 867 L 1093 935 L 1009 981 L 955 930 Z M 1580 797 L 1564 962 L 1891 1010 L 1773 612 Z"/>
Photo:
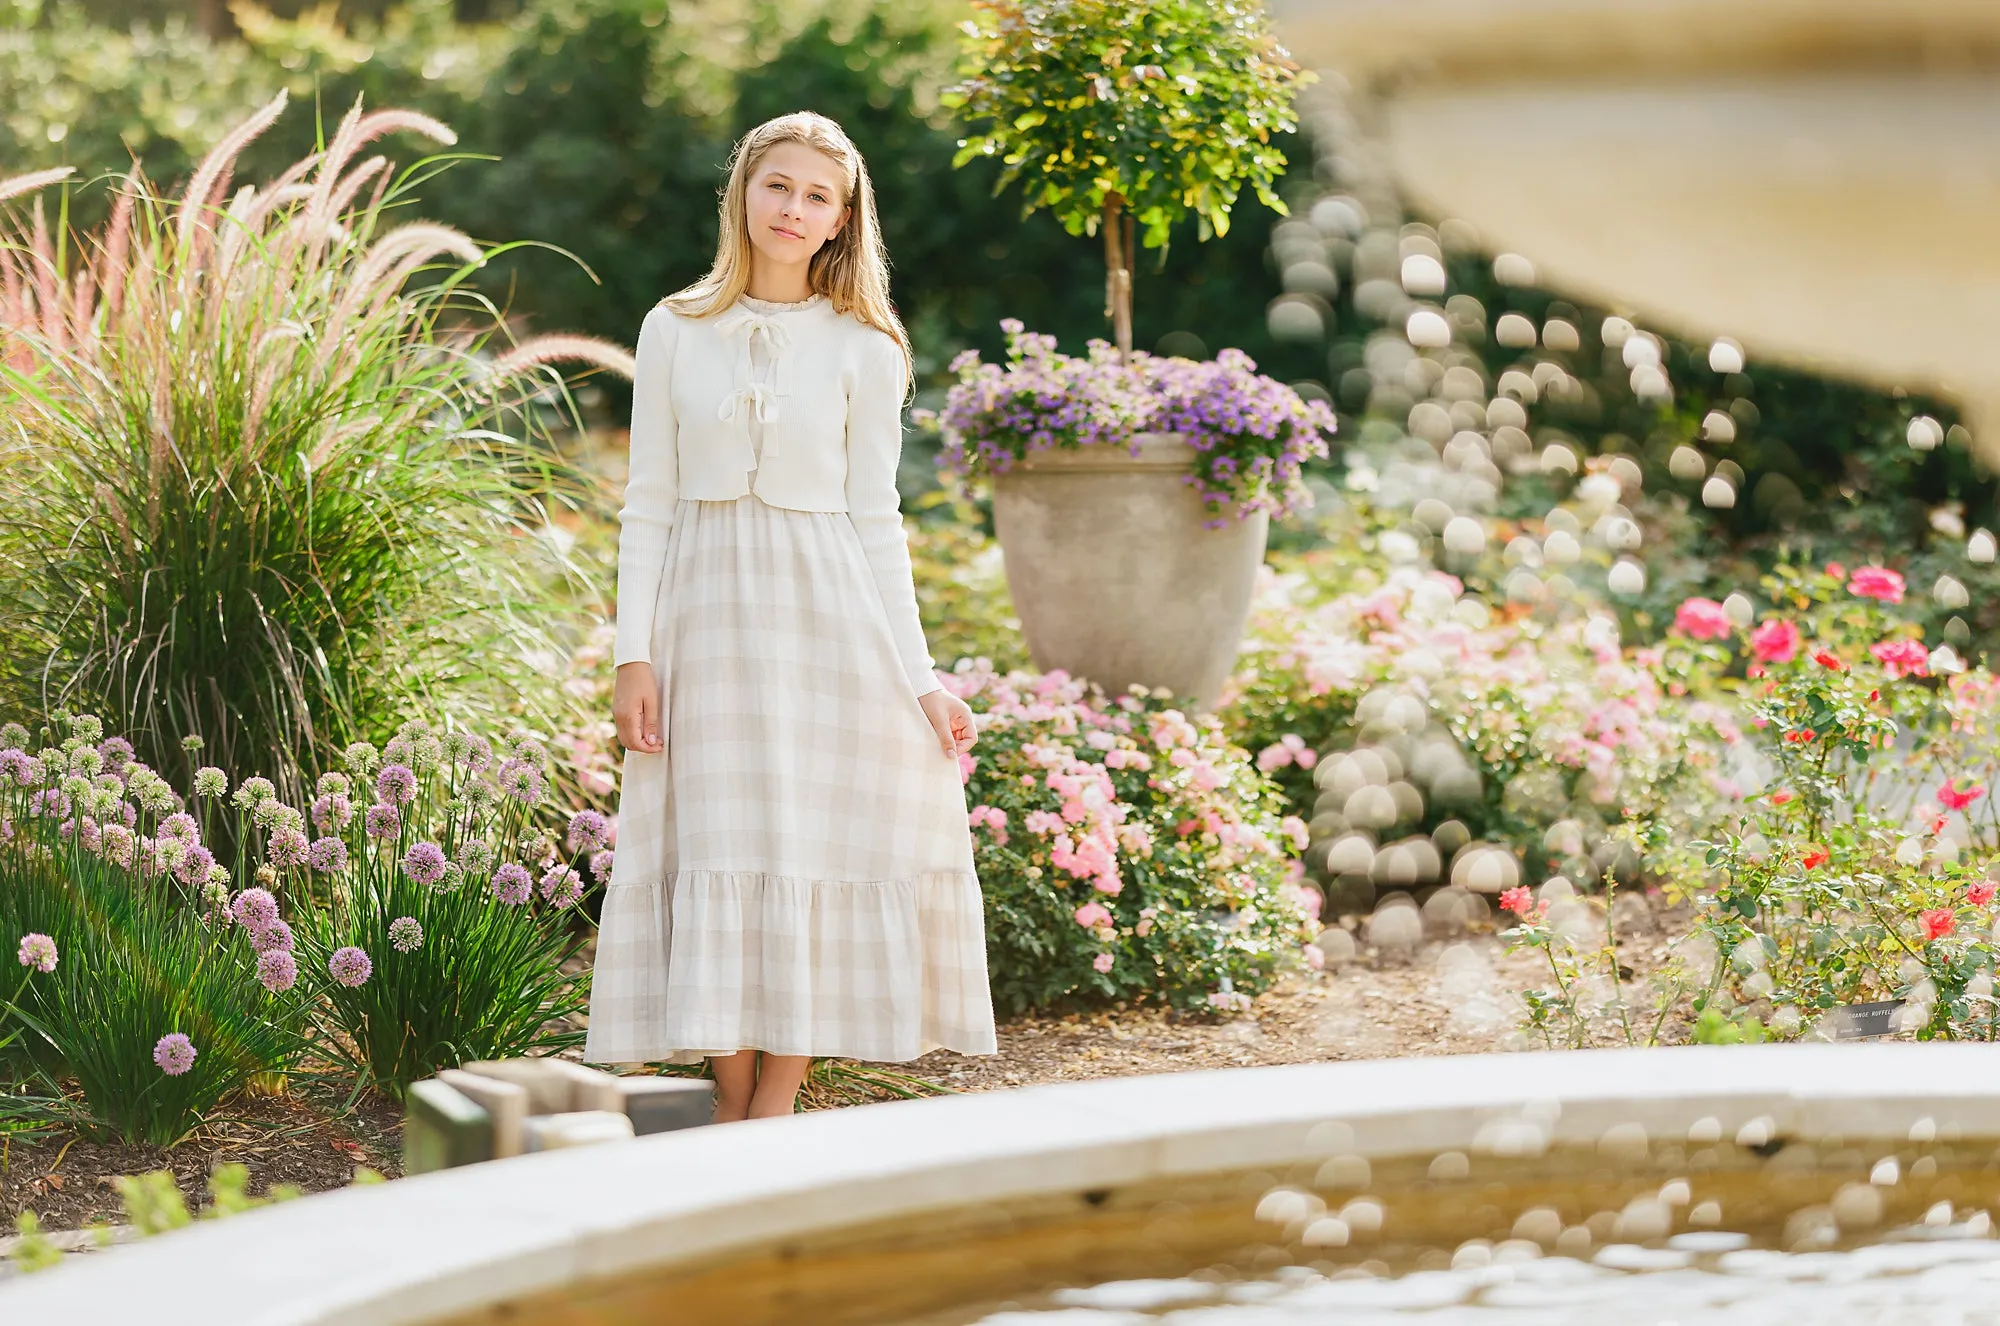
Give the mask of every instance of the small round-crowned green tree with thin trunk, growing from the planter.
<path id="1" fill-rule="evenodd" d="M 1292 132 L 1292 94 L 1312 78 L 1248 0 L 974 0 L 960 82 L 942 104 L 986 132 L 954 166 L 1000 158 L 994 192 L 1024 180 L 1026 212 L 1070 234 L 1104 232 L 1104 314 L 1132 352 L 1132 230 L 1166 248 L 1194 214 L 1200 238 L 1228 234 L 1248 184 L 1274 212 Z"/>

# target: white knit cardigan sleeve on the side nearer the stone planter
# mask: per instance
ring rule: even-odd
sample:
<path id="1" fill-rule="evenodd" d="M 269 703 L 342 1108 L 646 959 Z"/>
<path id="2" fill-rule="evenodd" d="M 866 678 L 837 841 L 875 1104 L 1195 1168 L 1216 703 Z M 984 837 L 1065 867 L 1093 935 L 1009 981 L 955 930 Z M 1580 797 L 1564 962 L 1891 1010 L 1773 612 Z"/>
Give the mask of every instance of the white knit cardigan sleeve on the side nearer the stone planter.
<path id="1" fill-rule="evenodd" d="M 934 672 L 930 646 L 924 644 L 924 624 L 916 614 L 910 536 L 902 528 L 902 502 L 896 494 L 896 462 L 902 458 L 902 346 L 870 328 L 848 396 L 848 518 L 882 594 L 896 654 L 910 676 L 910 686 L 924 696 L 944 690 L 944 682 Z"/>

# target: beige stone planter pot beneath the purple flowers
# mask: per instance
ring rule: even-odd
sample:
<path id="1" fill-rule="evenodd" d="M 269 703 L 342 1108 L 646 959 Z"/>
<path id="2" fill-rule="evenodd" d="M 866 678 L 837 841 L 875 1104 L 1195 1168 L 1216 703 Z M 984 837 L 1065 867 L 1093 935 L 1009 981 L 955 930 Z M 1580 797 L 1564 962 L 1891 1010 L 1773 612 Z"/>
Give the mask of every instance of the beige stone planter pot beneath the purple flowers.
<path id="1" fill-rule="evenodd" d="M 1266 512 L 1216 530 L 1176 434 L 1050 448 L 992 480 L 994 530 L 1034 666 L 1124 694 L 1166 688 L 1214 708 L 1264 562 Z"/>

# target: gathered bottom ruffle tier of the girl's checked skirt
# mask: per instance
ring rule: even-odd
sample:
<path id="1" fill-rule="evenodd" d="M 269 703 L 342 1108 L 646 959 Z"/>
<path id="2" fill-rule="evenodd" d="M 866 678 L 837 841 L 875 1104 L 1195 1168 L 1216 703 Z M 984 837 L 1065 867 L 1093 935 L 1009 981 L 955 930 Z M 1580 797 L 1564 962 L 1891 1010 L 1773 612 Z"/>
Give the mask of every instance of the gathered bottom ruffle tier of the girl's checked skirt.
<path id="1" fill-rule="evenodd" d="M 604 894 L 584 1058 L 994 1054 L 978 876 L 682 870 Z"/>

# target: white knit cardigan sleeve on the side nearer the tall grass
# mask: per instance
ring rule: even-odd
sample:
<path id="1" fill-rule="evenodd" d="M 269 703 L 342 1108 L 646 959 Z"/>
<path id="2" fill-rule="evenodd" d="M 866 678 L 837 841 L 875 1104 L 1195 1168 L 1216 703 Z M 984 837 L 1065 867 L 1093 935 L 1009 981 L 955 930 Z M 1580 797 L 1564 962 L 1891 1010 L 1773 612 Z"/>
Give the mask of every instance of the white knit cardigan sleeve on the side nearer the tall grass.
<path id="1" fill-rule="evenodd" d="M 666 568 L 666 534 L 680 496 L 680 428 L 668 390 L 678 322 L 654 306 L 638 332 L 632 372 L 632 448 L 624 506 L 618 512 L 618 634 L 612 664 L 652 660 L 652 620 Z"/>

